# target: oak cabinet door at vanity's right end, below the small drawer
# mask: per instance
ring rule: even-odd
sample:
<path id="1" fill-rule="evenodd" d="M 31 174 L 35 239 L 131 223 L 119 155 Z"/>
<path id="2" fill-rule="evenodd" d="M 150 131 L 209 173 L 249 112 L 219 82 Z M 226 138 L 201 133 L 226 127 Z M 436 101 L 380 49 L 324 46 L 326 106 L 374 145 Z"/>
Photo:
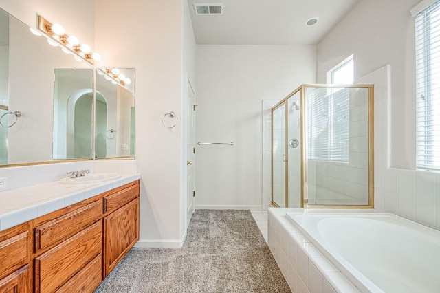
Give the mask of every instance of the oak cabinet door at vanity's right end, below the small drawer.
<path id="1" fill-rule="evenodd" d="M 139 198 L 104 217 L 104 277 L 139 240 Z"/>

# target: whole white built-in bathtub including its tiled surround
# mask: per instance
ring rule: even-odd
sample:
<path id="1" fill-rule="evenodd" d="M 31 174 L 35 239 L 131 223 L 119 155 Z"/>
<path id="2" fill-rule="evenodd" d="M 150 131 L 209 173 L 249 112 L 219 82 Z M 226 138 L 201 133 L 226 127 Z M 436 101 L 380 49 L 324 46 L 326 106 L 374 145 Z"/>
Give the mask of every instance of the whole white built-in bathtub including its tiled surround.
<path id="1" fill-rule="evenodd" d="M 440 232 L 371 212 L 270 208 L 269 246 L 294 292 L 437 292 Z"/>

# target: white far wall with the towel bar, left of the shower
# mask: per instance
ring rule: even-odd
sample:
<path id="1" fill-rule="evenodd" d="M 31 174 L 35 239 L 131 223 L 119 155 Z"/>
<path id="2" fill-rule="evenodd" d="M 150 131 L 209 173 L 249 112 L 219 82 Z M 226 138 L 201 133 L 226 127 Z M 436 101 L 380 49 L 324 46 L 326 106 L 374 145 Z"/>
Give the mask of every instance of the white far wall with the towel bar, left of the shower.
<path id="1" fill-rule="evenodd" d="M 314 45 L 197 45 L 197 208 L 261 208 L 262 100 L 316 78 Z"/>

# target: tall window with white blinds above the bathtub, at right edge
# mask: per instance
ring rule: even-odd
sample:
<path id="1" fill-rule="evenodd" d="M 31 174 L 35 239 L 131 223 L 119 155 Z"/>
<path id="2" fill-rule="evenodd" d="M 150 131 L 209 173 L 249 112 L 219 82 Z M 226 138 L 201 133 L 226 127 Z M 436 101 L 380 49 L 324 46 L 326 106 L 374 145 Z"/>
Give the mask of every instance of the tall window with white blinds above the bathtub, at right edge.
<path id="1" fill-rule="evenodd" d="M 440 171 L 440 1 L 415 16 L 416 166 Z"/>

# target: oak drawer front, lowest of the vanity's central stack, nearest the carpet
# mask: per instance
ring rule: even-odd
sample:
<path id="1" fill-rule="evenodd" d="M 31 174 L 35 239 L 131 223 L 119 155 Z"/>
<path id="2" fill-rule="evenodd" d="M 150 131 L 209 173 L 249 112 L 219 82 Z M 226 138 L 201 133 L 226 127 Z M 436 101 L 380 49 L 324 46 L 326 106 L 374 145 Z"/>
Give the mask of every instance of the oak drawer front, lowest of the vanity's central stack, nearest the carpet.
<path id="1" fill-rule="evenodd" d="M 57 293 L 94 292 L 102 281 L 102 254 L 89 262 L 83 270 L 72 277 Z"/>

